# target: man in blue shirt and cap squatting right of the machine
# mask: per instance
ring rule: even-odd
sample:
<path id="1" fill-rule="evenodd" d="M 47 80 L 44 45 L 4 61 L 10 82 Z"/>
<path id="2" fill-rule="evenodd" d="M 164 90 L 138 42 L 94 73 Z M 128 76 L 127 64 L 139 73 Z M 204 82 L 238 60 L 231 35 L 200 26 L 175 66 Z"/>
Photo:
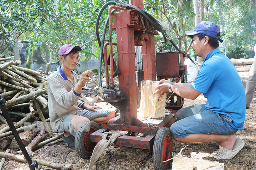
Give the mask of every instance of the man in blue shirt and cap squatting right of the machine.
<path id="1" fill-rule="evenodd" d="M 200 22 L 195 30 L 186 31 L 193 38 L 191 47 L 196 56 L 204 59 L 193 83 L 172 83 L 161 80 L 154 94 L 167 92 L 196 99 L 201 93 L 205 104 L 180 109 L 177 122 L 171 126 L 175 140 L 184 143 L 219 142 L 219 150 L 212 153 L 216 159 L 232 159 L 243 147 L 235 132 L 243 129 L 245 93 L 242 81 L 227 56 L 220 53 L 220 27 L 210 21 Z"/>

